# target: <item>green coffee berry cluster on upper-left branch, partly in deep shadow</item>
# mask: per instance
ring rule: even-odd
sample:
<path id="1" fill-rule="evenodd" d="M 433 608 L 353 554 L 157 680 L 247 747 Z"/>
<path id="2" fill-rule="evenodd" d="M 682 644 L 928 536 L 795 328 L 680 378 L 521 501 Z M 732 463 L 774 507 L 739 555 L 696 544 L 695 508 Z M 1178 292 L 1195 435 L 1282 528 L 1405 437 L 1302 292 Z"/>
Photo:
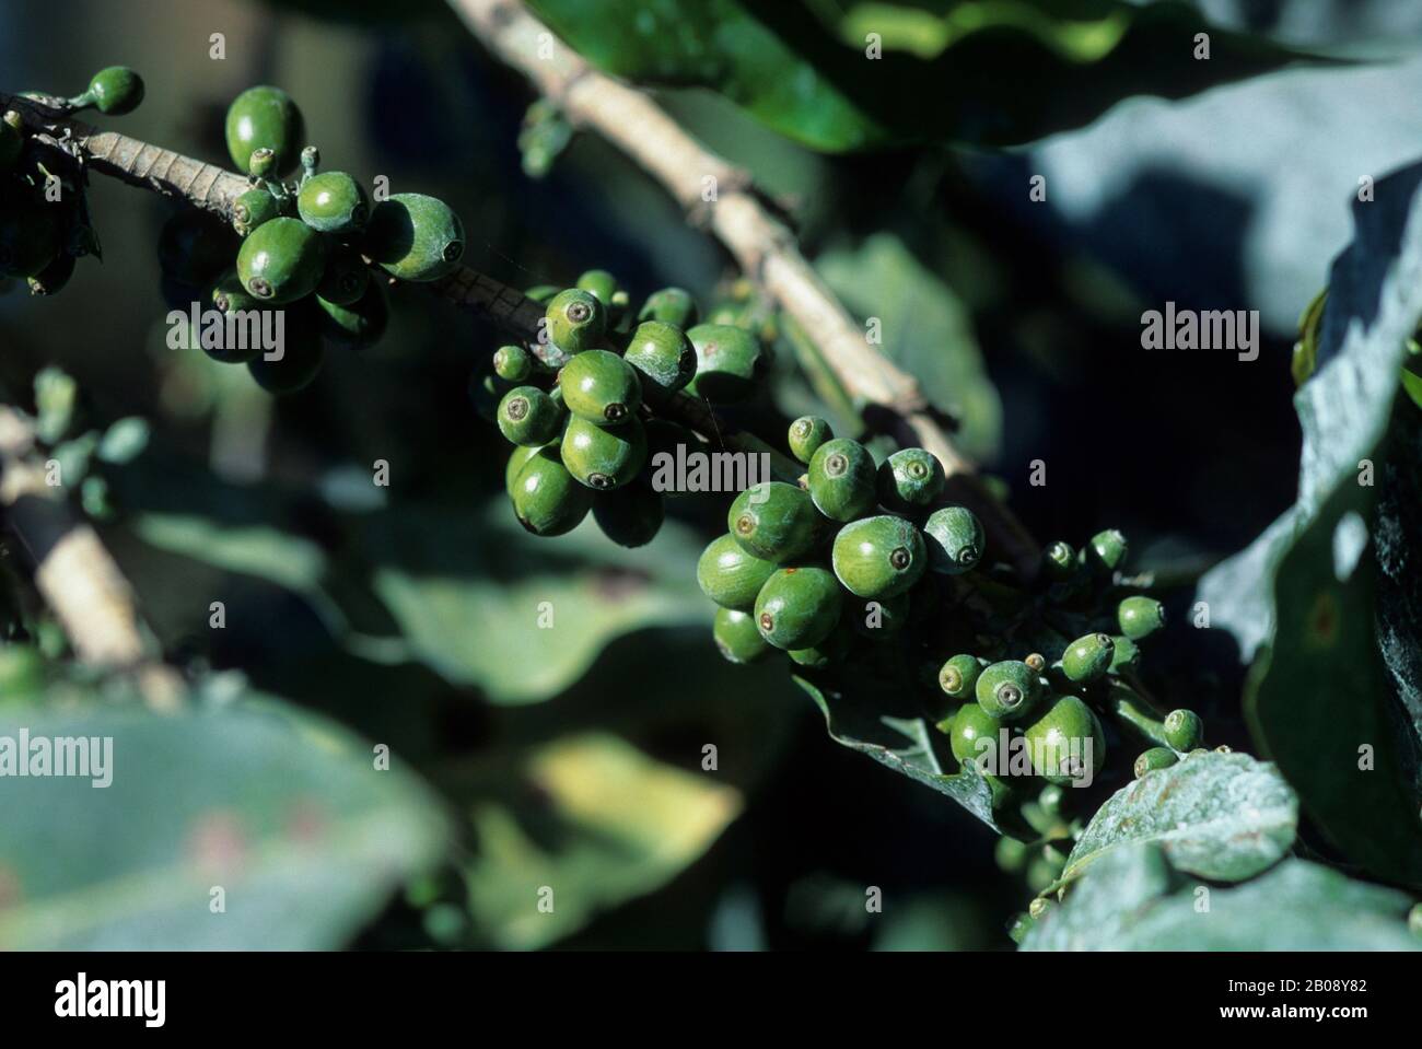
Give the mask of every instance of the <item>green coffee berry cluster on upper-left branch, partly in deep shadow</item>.
<path id="1" fill-rule="evenodd" d="M 319 171 L 320 154 L 304 138 L 301 112 L 284 91 L 243 91 L 228 108 L 226 139 L 250 186 L 230 222 L 183 209 L 159 239 L 171 304 L 253 317 L 282 311 L 279 360 L 256 340 L 195 340 L 213 360 L 246 364 L 279 394 L 316 377 L 327 341 L 375 343 L 388 320 L 385 283 L 438 280 L 459 264 L 465 244 L 459 217 L 442 200 L 394 193 L 373 205 L 354 176 Z"/>

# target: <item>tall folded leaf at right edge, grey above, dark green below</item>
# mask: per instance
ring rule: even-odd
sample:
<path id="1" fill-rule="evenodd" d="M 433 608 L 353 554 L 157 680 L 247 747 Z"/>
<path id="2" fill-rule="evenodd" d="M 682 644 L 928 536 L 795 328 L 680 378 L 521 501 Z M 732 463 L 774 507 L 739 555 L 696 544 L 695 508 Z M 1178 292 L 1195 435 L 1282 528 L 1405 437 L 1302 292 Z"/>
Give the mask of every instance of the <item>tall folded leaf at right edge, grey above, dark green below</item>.
<path id="1" fill-rule="evenodd" d="M 1419 480 L 1398 375 L 1422 318 L 1422 165 L 1354 206 L 1332 267 L 1318 367 L 1295 394 L 1298 502 L 1212 570 L 1197 597 L 1253 661 L 1244 709 L 1261 752 L 1354 861 L 1422 884 L 1415 574 L 1404 547 Z M 1382 492 L 1386 499 L 1379 505 Z M 1415 532 L 1412 533 L 1415 534 Z M 1378 615 L 1395 618 L 1379 634 Z"/>

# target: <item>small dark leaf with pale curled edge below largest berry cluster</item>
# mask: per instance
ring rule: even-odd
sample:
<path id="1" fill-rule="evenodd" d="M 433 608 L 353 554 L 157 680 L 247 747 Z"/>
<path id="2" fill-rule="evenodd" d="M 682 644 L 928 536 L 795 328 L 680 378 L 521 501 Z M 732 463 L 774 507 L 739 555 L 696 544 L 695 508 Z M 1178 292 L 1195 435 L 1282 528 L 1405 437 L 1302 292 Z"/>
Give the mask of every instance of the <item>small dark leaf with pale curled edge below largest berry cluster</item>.
<path id="1" fill-rule="evenodd" d="M 872 682 L 863 679 L 846 687 L 828 678 L 811 679 L 808 675 L 796 675 L 795 684 L 819 706 L 829 738 L 836 743 L 869 755 L 880 765 L 947 795 L 990 827 L 1000 830 L 993 816 L 993 789 L 977 769 L 968 763 L 961 772 L 946 772 L 953 768 L 947 736 L 924 718 L 884 712 L 897 705 L 892 688 L 876 691 Z"/>

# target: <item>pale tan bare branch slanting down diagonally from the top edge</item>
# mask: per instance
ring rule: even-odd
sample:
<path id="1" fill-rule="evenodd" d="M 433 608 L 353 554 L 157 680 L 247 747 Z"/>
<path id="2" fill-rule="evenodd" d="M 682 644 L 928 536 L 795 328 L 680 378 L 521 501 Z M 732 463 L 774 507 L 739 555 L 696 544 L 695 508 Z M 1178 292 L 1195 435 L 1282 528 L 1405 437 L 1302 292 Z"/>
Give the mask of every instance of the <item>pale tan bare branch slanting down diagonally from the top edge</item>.
<path id="1" fill-rule="evenodd" d="M 933 452 L 948 473 L 951 497 L 971 506 L 988 537 L 1020 573 L 1038 567 L 1037 543 L 974 472 L 923 395 L 917 380 L 877 353 L 849 311 L 801 254 L 793 233 L 761 203 L 748 172 L 691 138 L 644 92 L 607 77 L 566 45 L 519 0 L 449 0 L 493 54 L 533 81 L 574 127 L 593 128 L 656 178 L 687 212 L 708 225 L 741 270 L 815 341 L 840 382 L 883 419 L 900 443 Z M 705 189 L 715 186 L 712 200 Z M 876 411 L 877 409 L 877 411 Z"/>

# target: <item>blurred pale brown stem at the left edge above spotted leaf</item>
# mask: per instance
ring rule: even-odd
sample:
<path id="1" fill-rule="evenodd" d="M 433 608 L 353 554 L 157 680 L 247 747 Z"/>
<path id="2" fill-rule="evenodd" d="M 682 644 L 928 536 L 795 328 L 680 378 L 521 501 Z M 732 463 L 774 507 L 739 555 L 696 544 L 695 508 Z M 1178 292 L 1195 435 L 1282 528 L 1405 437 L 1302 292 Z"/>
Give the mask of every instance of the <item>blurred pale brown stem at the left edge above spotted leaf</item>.
<path id="1" fill-rule="evenodd" d="M 9 405 L 0 405 L 0 506 L 80 662 L 129 674 L 154 709 L 179 706 L 182 678 L 151 657 L 128 580 L 94 529 L 70 512 L 63 489 L 47 483 L 34 424 Z"/>

